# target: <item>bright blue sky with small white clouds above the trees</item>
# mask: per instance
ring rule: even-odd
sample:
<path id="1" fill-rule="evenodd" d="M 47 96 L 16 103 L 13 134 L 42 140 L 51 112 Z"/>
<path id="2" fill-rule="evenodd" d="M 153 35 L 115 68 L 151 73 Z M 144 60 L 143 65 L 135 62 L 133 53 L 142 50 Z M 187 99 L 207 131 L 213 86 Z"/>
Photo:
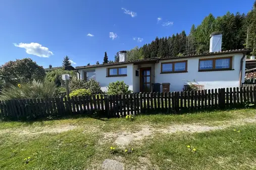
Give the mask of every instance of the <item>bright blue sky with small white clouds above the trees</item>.
<path id="1" fill-rule="evenodd" d="M 117 51 L 171 36 L 215 17 L 247 13 L 254 0 L 0 0 L 0 65 L 32 58 L 60 66 L 68 55 L 73 66 L 114 60 Z"/>

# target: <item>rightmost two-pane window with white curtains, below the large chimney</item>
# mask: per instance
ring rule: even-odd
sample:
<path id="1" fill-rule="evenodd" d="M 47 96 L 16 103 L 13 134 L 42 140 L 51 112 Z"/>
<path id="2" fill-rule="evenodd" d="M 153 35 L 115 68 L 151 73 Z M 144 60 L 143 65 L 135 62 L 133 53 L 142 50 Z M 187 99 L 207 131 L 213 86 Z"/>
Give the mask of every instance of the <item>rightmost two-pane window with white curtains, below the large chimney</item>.
<path id="1" fill-rule="evenodd" d="M 199 59 L 199 71 L 216 71 L 232 69 L 232 57 Z"/>

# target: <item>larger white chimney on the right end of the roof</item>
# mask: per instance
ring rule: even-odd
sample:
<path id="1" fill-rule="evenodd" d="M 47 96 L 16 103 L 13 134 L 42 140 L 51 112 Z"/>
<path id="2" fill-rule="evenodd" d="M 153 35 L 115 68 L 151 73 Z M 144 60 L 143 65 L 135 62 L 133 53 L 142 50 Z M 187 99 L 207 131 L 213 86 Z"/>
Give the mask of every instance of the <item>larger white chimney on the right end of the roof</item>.
<path id="1" fill-rule="evenodd" d="M 221 32 L 212 33 L 210 37 L 210 52 L 220 52 L 222 44 Z"/>

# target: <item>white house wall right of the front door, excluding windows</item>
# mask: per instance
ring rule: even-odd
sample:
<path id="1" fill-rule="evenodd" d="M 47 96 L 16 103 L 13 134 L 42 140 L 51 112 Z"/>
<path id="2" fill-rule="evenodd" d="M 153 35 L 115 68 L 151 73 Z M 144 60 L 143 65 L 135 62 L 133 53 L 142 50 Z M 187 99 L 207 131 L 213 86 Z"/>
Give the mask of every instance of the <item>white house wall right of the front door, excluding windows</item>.
<path id="1" fill-rule="evenodd" d="M 225 70 L 225 71 L 203 71 L 198 72 L 199 59 L 201 58 L 216 58 L 216 57 L 227 57 L 233 56 L 232 69 L 234 70 Z M 242 54 L 233 54 L 233 55 L 217 55 L 217 56 L 204 56 L 204 57 L 193 57 L 188 58 L 187 60 L 187 71 L 183 73 L 166 73 L 161 74 L 161 63 L 168 61 L 179 61 L 186 60 L 182 59 L 173 59 L 173 60 L 160 60 L 159 63 L 156 63 L 155 66 L 155 82 L 164 83 L 169 82 L 170 91 L 183 91 L 184 84 L 187 84 L 187 81 L 195 80 L 198 84 L 204 85 L 204 89 L 217 89 L 217 88 L 230 88 L 230 87 L 239 87 L 239 71 L 240 71 L 240 60 Z M 245 70 L 245 60 L 243 65 L 243 73 Z M 244 76 L 242 81 L 244 81 Z M 161 86 L 162 91 L 162 86 Z"/>

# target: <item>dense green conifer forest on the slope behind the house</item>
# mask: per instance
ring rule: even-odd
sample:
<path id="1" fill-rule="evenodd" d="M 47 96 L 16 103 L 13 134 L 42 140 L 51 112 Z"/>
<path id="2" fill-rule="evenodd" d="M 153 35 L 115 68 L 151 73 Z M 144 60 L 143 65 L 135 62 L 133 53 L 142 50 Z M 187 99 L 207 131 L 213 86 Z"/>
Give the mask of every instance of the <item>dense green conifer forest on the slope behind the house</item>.
<path id="1" fill-rule="evenodd" d="M 192 25 L 189 34 L 181 33 L 169 37 L 156 37 L 149 44 L 127 51 L 128 60 L 154 57 L 175 57 L 209 52 L 210 34 L 222 32 L 222 50 L 252 48 L 256 55 L 256 1 L 247 14 L 227 12 L 224 16 L 205 17 L 198 26 Z M 115 56 L 118 61 L 118 55 Z"/>

